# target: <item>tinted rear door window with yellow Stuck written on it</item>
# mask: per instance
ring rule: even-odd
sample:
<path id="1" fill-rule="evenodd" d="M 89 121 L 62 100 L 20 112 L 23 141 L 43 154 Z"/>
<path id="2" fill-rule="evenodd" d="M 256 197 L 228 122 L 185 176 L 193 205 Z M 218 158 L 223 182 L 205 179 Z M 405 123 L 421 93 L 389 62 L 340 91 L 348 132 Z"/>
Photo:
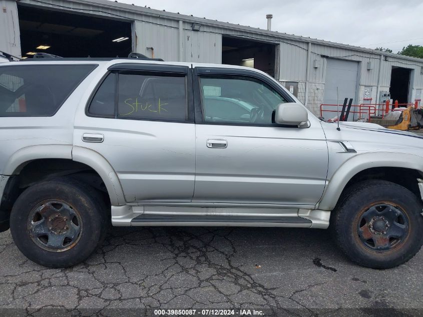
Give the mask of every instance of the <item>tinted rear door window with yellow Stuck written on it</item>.
<path id="1" fill-rule="evenodd" d="M 186 120 L 185 77 L 120 74 L 118 114 L 133 119 Z"/>

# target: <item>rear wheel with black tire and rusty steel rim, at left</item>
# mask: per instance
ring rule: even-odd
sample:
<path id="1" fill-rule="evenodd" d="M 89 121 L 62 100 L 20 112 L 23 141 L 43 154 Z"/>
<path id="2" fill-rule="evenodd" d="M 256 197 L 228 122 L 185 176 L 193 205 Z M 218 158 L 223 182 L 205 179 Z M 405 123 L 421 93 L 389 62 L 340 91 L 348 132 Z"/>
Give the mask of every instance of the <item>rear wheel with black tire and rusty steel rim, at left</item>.
<path id="1" fill-rule="evenodd" d="M 97 190 L 71 178 L 25 190 L 11 212 L 12 237 L 30 260 L 49 267 L 84 261 L 102 244 L 107 208 Z"/>

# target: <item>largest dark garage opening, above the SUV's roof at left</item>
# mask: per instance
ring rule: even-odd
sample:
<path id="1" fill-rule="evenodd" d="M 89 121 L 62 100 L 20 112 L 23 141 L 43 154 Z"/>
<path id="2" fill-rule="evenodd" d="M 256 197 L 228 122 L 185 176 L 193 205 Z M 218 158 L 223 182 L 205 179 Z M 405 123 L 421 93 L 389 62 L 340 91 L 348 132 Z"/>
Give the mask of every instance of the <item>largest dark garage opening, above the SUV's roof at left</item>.
<path id="1" fill-rule="evenodd" d="M 31 58 L 38 52 L 61 57 L 127 57 L 132 52 L 130 22 L 27 6 L 18 6 L 18 15 L 22 57 Z"/>

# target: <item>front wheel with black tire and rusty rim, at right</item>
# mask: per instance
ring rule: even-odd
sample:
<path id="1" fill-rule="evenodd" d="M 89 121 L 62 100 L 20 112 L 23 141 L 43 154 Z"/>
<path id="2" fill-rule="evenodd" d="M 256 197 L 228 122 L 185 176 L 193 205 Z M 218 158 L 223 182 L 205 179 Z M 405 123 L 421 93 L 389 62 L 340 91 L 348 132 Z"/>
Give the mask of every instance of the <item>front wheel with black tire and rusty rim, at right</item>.
<path id="1" fill-rule="evenodd" d="M 423 244 L 423 204 L 412 192 L 383 180 L 348 188 L 330 226 L 341 250 L 354 262 L 391 268 L 412 258 Z"/>

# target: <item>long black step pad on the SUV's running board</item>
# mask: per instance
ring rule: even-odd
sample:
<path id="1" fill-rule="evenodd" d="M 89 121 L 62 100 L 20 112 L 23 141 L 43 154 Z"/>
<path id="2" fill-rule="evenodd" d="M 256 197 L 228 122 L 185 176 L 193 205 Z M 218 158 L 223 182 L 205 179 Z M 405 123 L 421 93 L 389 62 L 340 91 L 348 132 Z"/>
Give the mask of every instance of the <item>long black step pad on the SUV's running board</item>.
<path id="1" fill-rule="evenodd" d="M 230 215 L 171 215 L 141 214 L 131 220 L 131 226 L 264 226 L 305 227 L 312 221 L 302 217 L 230 216 Z"/>

